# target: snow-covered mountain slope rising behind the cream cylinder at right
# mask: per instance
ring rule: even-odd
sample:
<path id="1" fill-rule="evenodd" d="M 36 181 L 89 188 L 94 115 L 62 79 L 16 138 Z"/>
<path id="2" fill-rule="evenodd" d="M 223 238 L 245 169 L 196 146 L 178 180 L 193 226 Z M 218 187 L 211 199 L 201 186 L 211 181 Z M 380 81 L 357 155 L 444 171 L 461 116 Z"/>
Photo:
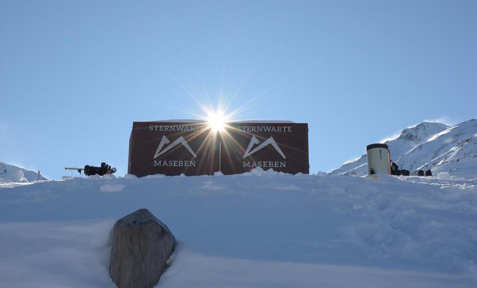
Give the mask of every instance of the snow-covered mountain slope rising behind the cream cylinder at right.
<path id="1" fill-rule="evenodd" d="M 399 169 L 411 172 L 431 169 L 434 174 L 477 174 L 477 119 L 453 127 L 442 123 L 423 122 L 404 129 L 393 140 L 386 141 L 393 162 Z M 331 174 L 366 175 L 366 153 L 343 164 Z"/>

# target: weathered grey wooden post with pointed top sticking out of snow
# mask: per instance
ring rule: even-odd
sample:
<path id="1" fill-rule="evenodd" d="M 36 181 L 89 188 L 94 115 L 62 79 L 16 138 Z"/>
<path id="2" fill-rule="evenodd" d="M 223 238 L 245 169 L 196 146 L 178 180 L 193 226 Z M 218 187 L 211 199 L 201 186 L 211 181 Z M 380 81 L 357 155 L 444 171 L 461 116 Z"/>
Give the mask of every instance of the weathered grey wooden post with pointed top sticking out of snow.
<path id="1" fill-rule="evenodd" d="M 114 225 L 109 275 L 119 288 L 154 287 L 174 246 L 169 228 L 140 209 Z"/>

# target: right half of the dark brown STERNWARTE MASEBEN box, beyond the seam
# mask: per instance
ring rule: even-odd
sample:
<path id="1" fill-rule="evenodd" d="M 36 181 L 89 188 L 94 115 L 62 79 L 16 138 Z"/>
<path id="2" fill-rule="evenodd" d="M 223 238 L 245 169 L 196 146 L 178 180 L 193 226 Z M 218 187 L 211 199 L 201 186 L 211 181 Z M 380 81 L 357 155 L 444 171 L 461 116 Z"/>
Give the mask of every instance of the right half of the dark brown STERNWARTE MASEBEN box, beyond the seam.
<path id="1" fill-rule="evenodd" d="M 221 171 L 237 174 L 255 167 L 309 173 L 308 124 L 229 123 L 221 134 Z"/>

